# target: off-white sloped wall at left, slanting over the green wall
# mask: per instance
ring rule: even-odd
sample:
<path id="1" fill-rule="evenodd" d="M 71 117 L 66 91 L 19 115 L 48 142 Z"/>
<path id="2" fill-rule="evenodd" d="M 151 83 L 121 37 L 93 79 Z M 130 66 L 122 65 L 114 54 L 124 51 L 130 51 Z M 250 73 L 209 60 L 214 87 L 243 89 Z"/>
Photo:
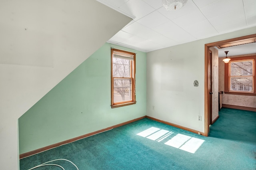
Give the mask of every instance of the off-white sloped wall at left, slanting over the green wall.
<path id="1" fill-rule="evenodd" d="M 17 170 L 18 118 L 132 19 L 95 0 L 0 9 L 0 169 Z"/>

